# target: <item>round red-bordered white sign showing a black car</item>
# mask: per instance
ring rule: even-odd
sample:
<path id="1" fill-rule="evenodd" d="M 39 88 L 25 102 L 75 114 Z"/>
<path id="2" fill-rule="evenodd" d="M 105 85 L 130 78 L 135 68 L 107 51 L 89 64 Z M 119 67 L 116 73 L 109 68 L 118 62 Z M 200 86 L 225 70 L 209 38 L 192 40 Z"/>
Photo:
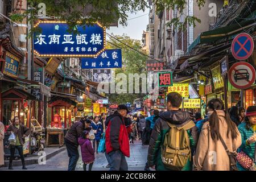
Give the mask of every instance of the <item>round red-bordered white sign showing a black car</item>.
<path id="1" fill-rule="evenodd" d="M 255 69 L 251 64 L 241 61 L 232 65 L 228 77 L 235 88 L 247 89 L 255 81 Z"/>

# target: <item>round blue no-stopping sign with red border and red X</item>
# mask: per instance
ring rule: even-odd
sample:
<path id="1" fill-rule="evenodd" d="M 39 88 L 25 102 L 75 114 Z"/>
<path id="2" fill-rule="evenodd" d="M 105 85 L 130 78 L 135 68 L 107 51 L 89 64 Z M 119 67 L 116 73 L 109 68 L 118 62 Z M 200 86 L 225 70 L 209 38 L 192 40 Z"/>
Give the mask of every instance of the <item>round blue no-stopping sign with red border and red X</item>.
<path id="1" fill-rule="evenodd" d="M 253 38 L 249 34 L 241 33 L 234 38 L 231 52 L 237 60 L 246 60 L 251 56 L 254 49 Z"/>

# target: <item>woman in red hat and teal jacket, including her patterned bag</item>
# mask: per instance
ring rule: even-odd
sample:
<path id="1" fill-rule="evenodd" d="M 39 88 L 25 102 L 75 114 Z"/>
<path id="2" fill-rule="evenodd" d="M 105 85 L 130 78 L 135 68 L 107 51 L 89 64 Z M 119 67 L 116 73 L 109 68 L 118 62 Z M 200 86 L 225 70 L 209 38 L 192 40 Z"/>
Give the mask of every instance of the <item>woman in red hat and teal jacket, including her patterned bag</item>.
<path id="1" fill-rule="evenodd" d="M 240 171 L 255 171 L 256 154 L 256 106 L 249 106 L 245 122 L 238 126 L 241 133 L 242 145 L 238 149 L 237 167 Z"/>

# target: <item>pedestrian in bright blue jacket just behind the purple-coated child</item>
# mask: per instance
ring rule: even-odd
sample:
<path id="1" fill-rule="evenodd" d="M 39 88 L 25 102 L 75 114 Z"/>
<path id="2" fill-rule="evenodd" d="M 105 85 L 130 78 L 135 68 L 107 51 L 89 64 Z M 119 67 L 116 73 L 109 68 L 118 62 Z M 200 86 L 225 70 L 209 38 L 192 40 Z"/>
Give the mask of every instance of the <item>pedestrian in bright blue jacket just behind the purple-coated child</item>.
<path id="1" fill-rule="evenodd" d="M 95 139 L 93 139 L 93 148 L 98 154 L 98 144 L 100 144 L 101 134 L 103 133 L 102 123 L 99 121 L 99 118 L 96 116 L 92 122 L 92 129 L 95 135 Z"/>

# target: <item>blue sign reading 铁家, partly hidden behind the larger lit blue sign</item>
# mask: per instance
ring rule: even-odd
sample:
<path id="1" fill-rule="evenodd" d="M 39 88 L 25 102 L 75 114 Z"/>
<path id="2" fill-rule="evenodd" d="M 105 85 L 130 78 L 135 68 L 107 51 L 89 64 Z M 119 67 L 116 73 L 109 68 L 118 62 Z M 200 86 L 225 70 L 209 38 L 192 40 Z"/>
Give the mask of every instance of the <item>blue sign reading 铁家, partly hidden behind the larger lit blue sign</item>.
<path id="1" fill-rule="evenodd" d="M 106 49 L 98 57 L 81 59 L 82 69 L 122 68 L 122 50 Z"/>

